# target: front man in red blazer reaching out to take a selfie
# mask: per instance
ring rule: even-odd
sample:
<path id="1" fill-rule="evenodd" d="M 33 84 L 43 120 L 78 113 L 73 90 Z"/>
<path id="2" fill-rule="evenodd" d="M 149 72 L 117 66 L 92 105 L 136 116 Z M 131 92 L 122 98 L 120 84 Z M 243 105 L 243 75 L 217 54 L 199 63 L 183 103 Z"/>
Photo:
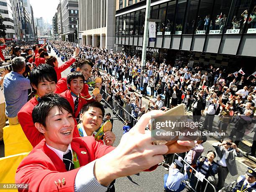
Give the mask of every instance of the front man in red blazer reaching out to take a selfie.
<path id="1" fill-rule="evenodd" d="M 103 145 L 92 136 L 73 138 L 72 113 L 63 97 L 53 93 L 41 97 L 32 116 L 45 140 L 20 163 L 15 181 L 29 184 L 29 188 L 19 191 L 103 192 L 118 177 L 154 170 L 154 165 L 163 161 L 162 154 L 184 152 L 195 145 L 194 141 L 152 145 L 145 127 L 151 115 L 164 113 L 160 110 L 143 115 L 117 148 Z"/>

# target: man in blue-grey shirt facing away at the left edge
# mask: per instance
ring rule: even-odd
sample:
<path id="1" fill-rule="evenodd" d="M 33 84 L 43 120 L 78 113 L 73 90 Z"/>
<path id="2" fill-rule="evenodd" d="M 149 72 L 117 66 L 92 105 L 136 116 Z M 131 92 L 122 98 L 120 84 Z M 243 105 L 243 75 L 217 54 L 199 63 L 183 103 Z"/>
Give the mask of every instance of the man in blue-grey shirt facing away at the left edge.
<path id="1" fill-rule="evenodd" d="M 12 61 L 13 71 L 5 75 L 3 82 L 5 95 L 5 115 L 10 125 L 16 125 L 18 112 L 28 101 L 28 89 L 31 89 L 29 79 L 23 77 L 26 63 L 23 57 L 15 57 Z"/>

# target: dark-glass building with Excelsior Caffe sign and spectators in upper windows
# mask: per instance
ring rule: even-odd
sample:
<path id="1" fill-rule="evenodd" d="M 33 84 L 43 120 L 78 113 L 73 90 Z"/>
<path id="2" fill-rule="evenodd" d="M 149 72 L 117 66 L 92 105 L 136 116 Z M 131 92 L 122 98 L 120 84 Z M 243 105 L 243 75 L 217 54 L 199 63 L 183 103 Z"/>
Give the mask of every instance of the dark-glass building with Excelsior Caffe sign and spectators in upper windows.
<path id="1" fill-rule="evenodd" d="M 253 67 L 254 71 L 255 5 L 255 0 L 151 0 L 156 39 L 148 42 L 146 59 L 166 59 L 174 65 L 183 57 L 194 66 L 227 66 L 230 71 Z M 117 0 L 117 50 L 141 57 L 145 13 L 146 0 Z"/>

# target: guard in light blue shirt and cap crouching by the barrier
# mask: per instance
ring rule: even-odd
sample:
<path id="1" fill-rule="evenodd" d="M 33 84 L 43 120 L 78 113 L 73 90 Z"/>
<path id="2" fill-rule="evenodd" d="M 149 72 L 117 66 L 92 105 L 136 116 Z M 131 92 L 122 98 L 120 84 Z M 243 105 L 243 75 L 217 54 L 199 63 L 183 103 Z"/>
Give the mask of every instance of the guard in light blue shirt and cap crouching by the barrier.
<path id="1" fill-rule="evenodd" d="M 164 189 L 166 192 L 180 192 L 185 188 L 185 184 L 182 181 L 187 180 L 188 176 L 186 171 L 185 175 L 180 172 L 182 167 L 182 163 L 175 159 L 169 168 L 169 174 L 164 175 Z"/>

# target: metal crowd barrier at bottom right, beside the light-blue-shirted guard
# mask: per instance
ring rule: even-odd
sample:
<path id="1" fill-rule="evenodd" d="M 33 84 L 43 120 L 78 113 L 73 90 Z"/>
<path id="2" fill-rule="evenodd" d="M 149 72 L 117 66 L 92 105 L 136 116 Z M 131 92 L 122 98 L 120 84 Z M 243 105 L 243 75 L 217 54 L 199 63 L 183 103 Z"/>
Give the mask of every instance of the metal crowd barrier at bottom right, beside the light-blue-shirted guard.
<path id="1" fill-rule="evenodd" d="M 176 158 L 175 158 L 176 157 Z M 174 160 L 175 159 L 178 159 L 180 156 L 178 155 L 178 154 L 174 154 L 174 156 L 173 156 L 173 158 L 172 158 L 172 163 L 174 162 Z M 191 172 L 189 172 L 189 171 L 187 171 L 187 174 L 188 174 L 188 176 L 189 176 L 189 179 L 187 180 L 187 181 L 183 181 L 185 184 L 186 184 L 186 186 L 187 187 L 189 187 L 189 189 L 191 189 L 192 191 L 194 191 L 194 192 L 197 192 L 197 185 L 198 185 L 198 183 L 199 182 L 201 182 L 199 179 L 196 179 L 197 177 L 195 177 L 195 174 L 197 173 L 197 171 L 196 171 L 196 169 L 194 169 L 192 166 L 190 166 L 190 164 L 189 163 L 187 163 L 187 161 L 185 161 L 184 159 L 181 159 L 181 162 L 182 162 L 182 164 L 183 164 L 183 166 L 186 164 L 187 165 L 187 167 L 189 168 L 189 169 L 191 169 L 192 171 Z M 188 169 L 188 170 L 189 170 Z M 182 171 L 183 173 L 184 173 L 184 170 Z M 196 184 L 195 184 L 195 187 L 193 187 L 193 186 L 191 186 L 191 180 L 193 180 L 192 182 L 196 182 Z M 203 191 L 203 192 L 208 192 L 208 191 L 210 191 L 210 192 L 216 192 L 216 189 L 215 189 L 215 187 L 214 187 L 214 185 L 213 184 L 211 184 L 207 179 L 205 179 L 205 178 L 203 178 L 203 181 L 204 182 L 206 182 L 206 185 L 205 185 L 205 190 Z"/>

